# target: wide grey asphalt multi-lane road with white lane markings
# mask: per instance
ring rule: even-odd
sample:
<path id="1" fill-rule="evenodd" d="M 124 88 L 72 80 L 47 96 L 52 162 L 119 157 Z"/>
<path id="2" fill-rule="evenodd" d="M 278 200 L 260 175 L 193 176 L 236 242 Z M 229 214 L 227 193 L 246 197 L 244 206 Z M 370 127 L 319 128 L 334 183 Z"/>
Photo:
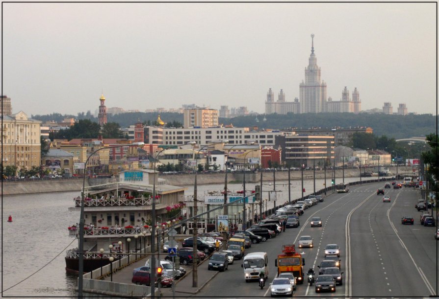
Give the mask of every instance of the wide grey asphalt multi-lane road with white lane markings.
<path id="1" fill-rule="evenodd" d="M 276 276 L 274 265 L 282 244 L 296 244 L 301 235 L 314 239 L 314 248 L 300 249 L 305 258 L 305 273 L 324 257 L 326 244 L 336 243 L 341 249 L 343 285 L 335 293 L 315 293 L 314 285 L 299 284 L 294 296 L 323 297 L 428 297 L 437 294 L 436 228 L 419 223 L 414 204 L 418 191 L 413 188 L 385 189 L 391 198 L 383 203 L 376 190 L 384 183 L 351 186 L 349 193 L 333 194 L 323 203 L 310 207 L 300 216 L 299 228 L 290 228 L 276 238 L 253 245 L 249 252 L 266 252 L 269 256 L 269 278 Z M 402 225 L 402 216 L 412 216 L 414 225 Z M 320 216 L 322 227 L 310 227 L 310 217 Z M 270 296 L 270 286 L 258 288 L 258 283 L 245 283 L 237 260 L 229 270 L 219 273 L 197 297 Z M 207 264 L 205 264 L 207 267 Z"/>

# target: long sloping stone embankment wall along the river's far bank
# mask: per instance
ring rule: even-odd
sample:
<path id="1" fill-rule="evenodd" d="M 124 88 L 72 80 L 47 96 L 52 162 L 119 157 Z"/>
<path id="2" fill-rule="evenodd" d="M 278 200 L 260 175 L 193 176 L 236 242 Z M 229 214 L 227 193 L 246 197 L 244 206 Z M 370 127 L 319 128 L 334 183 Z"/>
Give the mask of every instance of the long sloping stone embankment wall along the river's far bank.
<path id="1" fill-rule="evenodd" d="M 390 168 L 390 171 L 395 174 L 396 167 Z M 326 171 L 326 178 L 331 180 L 332 170 Z M 345 177 L 358 177 L 360 170 L 357 168 L 350 168 L 344 170 Z M 413 174 L 412 167 L 398 167 L 398 173 L 402 176 Z M 229 173 L 227 181 L 230 182 L 242 182 L 243 173 Z M 304 171 L 304 179 L 309 180 L 313 178 L 313 171 Z M 263 172 L 263 180 L 266 182 L 273 181 L 272 172 Z M 316 170 L 316 178 L 324 178 L 325 173 L 323 170 Z M 343 176 L 342 170 L 336 170 L 336 178 L 341 178 Z M 168 184 L 171 185 L 192 185 L 194 184 L 195 175 L 166 175 L 161 176 L 161 178 L 166 179 Z M 224 183 L 224 173 L 220 174 L 198 174 L 197 184 L 221 184 Z M 300 171 L 291 171 L 291 180 L 300 180 Z M 248 183 L 257 183 L 260 181 L 260 173 L 247 172 L 245 174 L 245 180 Z M 276 181 L 288 180 L 287 171 L 277 171 Z M 98 185 L 106 183 L 116 182 L 115 178 L 111 179 L 86 179 L 85 186 Z M 15 194 L 29 194 L 29 193 L 45 193 L 45 192 L 66 192 L 66 191 L 77 191 L 78 194 L 82 189 L 82 179 L 69 179 L 69 180 L 51 180 L 51 181 L 24 181 L 24 182 L 2 182 L 1 193 L 3 195 L 15 195 Z"/>

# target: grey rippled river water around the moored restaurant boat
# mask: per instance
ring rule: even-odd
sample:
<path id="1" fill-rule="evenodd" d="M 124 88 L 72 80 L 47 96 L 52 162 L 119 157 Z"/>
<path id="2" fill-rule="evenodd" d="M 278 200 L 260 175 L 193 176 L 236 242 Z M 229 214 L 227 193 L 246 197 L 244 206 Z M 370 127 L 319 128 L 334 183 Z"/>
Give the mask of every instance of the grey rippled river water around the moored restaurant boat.
<path id="1" fill-rule="evenodd" d="M 272 175 L 264 173 L 264 177 Z M 330 175 L 330 174 L 329 174 Z M 369 178 L 363 178 L 369 179 Z M 345 178 L 346 182 L 359 178 Z M 341 179 L 337 179 L 337 183 Z M 288 201 L 287 181 L 277 181 L 277 205 Z M 316 190 L 324 180 L 316 179 Z M 331 178 L 327 179 L 331 184 Z M 186 186 L 186 195 L 193 195 L 193 185 Z M 221 191 L 224 184 L 198 185 L 198 196 L 208 191 Z M 255 184 L 246 184 L 254 190 Z M 273 184 L 262 185 L 273 190 Z M 305 195 L 313 192 L 313 180 L 304 180 Z M 242 190 L 242 184 L 228 184 L 231 191 Z M 66 297 L 76 296 L 77 277 L 67 275 L 64 257 L 66 250 L 77 247 L 67 228 L 79 222 L 79 212 L 71 212 L 73 198 L 78 192 L 51 192 L 3 196 L 2 198 L 2 297 Z M 263 193 L 267 197 L 266 193 Z M 291 181 L 291 199 L 301 197 L 301 181 Z M 270 207 L 268 207 L 270 208 Z M 12 222 L 7 222 L 8 216 Z"/>

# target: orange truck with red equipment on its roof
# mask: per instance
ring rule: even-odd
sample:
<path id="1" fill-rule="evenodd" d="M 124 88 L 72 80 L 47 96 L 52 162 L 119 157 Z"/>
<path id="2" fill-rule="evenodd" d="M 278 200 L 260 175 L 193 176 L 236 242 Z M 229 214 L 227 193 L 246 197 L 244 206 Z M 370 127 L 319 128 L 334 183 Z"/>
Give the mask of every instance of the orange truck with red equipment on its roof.
<path id="1" fill-rule="evenodd" d="M 278 276 L 283 272 L 291 272 L 296 278 L 297 283 L 303 283 L 305 258 L 296 252 L 294 244 L 282 245 L 282 254 L 279 254 L 276 258 L 275 266 L 278 267 Z"/>

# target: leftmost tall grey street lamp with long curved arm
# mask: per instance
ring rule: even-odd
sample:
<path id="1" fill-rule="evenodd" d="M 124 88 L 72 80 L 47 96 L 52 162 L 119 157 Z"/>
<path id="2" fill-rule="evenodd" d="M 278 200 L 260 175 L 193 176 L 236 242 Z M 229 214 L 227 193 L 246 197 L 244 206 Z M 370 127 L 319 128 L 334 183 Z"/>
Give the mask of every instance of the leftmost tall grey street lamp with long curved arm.
<path id="1" fill-rule="evenodd" d="M 111 148 L 117 148 L 117 147 L 125 147 L 125 146 L 142 146 L 144 145 L 144 142 L 134 142 L 129 144 L 121 144 L 116 146 L 111 146 Z M 87 157 L 87 160 L 85 160 L 84 163 L 84 178 L 82 180 L 82 192 L 81 192 L 81 209 L 80 209 L 80 215 L 79 215 L 79 247 L 78 247 L 78 297 L 82 297 L 82 289 L 83 289 L 83 276 L 84 276 L 84 201 L 85 201 L 85 171 L 87 170 L 87 163 L 90 160 L 90 158 L 96 154 L 97 152 L 103 150 L 103 149 L 109 149 L 109 147 L 101 147 L 95 150 L 93 153 L 90 154 L 90 156 Z M 110 248 L 111 252 L 111 248 Z"/>

